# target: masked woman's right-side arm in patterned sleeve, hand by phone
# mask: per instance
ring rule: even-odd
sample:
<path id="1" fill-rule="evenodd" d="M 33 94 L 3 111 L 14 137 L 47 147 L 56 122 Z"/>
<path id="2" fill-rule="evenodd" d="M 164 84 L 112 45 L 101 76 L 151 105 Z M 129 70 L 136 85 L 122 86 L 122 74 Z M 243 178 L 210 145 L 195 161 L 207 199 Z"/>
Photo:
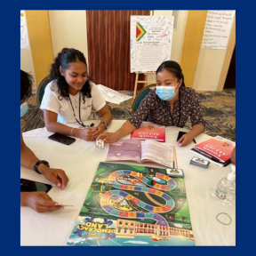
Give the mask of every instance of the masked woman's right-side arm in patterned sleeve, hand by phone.
<path id="1" fill-rule="evenodd" d="M 180 147 L 187 146 L 197 135 L 203 133 L 205 130 L 205 121 L 201 111 L 201 104 L 195 90 L 191 92 L 190 99 L 192 99 L 192 102 L 190 103 L 192 108 L 190 115 L 192 128 L 177 141 Z"/>

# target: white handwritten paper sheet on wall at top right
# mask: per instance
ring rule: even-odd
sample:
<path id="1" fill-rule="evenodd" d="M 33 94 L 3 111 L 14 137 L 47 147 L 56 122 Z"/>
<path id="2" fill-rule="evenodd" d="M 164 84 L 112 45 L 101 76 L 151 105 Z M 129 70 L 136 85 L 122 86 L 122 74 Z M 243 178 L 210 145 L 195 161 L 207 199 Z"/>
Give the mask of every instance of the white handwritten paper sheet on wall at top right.
<path id="1" fill-rule="evenodd" d="M 226 49 L 235 11 L 208 11 L 201 48 Z"/>

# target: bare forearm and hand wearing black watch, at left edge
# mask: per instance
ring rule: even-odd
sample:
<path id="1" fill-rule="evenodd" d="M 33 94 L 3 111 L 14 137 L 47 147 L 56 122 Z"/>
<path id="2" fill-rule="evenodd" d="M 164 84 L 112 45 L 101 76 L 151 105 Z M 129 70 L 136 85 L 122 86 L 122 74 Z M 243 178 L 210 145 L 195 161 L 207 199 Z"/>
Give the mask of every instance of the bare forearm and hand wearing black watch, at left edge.
<path id="1" fill-rule="evenodd" d="M 28 169 L 33 170 L 34 165 L 39 161 L 36 155 L 25 144 L 22 133 L 20 132 L 20 164 Z M 47 180 L 52 181 L 58 188 L 65 188 L 68 184 L 68 177 L 61 169 L 49 168 L 44 164 L 38 165 L 38 172 L 44 174 Z"/>

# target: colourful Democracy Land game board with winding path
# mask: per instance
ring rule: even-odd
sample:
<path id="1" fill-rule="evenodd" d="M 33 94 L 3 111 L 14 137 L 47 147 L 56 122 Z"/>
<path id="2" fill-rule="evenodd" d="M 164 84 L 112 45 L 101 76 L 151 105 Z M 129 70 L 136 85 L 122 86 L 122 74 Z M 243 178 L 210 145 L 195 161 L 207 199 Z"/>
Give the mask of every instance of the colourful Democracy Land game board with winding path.
<path id="1" fill-rule="evenodd" d="M 67 244 L 195 245 L 184 179 L 100 162 Z"/>

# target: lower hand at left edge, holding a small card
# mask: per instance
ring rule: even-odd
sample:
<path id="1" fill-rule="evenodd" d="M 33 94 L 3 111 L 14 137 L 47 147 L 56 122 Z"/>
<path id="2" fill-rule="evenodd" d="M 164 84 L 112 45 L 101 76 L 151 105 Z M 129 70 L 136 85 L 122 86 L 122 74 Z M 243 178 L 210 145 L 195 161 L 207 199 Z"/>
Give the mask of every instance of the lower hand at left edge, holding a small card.
<path id="1" fill-rule="evenodd" d="M 45 192 L 21 192 L 20 205 L 28 206 L 36 212 L 52 212 L 64 209 L 61 204 L 53 202 L 52 198 Z"/>

